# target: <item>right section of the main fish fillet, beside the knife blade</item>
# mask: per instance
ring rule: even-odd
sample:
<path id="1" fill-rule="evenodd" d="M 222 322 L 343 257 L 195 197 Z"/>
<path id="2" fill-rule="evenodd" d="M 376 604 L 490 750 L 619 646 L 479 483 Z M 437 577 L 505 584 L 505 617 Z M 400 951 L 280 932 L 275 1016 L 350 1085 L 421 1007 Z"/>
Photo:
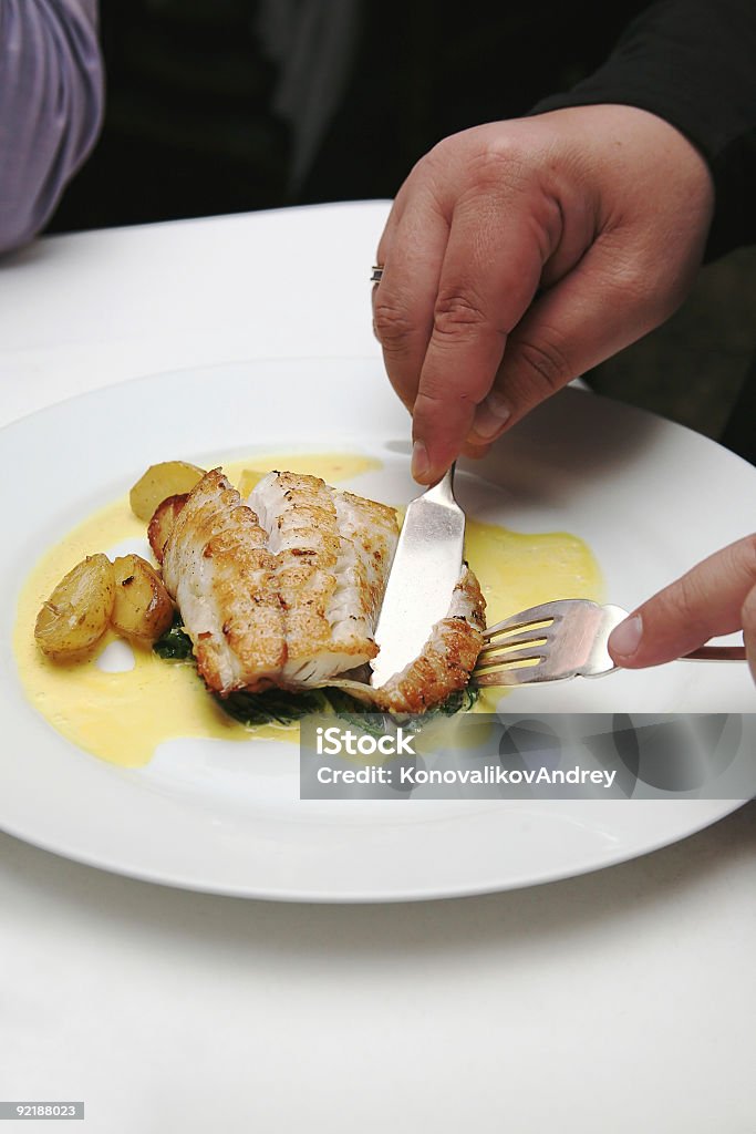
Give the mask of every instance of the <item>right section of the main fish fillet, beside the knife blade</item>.
<path id="1" fill-rule="evenodd" d="M 272 472 L 249 503 L 267 530 L 284 610 L 287 660 L 278 684 L 318 685 L 377 653 L 373 629 L 396 549 L 392 508 L 317 476 Z"/>

